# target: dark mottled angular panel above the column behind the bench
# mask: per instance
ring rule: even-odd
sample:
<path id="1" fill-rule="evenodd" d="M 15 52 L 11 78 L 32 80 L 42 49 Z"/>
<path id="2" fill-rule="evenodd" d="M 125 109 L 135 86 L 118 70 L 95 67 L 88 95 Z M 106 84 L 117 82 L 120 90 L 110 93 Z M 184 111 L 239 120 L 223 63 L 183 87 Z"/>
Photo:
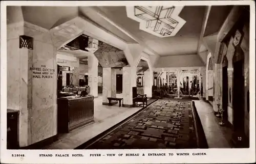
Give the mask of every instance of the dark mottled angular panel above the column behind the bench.
<path id="1" fill-rule="evenodd" d="M 122 50 L 101 41 L 98 47 L 94 54 L 103 68 L 119 68 L 129 64 Z"/>

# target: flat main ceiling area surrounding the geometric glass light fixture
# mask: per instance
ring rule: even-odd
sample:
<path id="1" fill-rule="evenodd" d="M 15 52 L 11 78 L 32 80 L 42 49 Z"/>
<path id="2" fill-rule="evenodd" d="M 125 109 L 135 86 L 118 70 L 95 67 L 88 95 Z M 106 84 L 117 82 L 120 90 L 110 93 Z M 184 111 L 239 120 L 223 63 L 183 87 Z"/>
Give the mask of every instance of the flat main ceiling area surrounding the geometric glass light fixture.
<path id="1" fill-rule="evenodd" d="M 140 30 L 139 22 L 127 17 L 125 6 L 98 6 L 94 8 L 103 12 L 115 23 L 120 24 L 126 31 L 151 47 L 160 56 L 197 53 L 205 6 L 185 6 L 179 16 L 186 23 L 176 36 L 166 38 L 160 38 Z"/>

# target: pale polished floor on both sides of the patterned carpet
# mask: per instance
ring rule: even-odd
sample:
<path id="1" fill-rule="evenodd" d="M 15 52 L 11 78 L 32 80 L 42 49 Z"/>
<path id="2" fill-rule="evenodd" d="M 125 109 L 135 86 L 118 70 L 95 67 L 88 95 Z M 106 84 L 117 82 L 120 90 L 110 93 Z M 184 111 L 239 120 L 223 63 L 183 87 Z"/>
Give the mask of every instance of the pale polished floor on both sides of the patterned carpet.
<path id="1" fill-rule="evenodd" d="M 117 97 L 122 97 L 117 94 Z M 82 126 L 67 134 L 59 134 L 58 141 L 43 149 L 75 149 L 83 143 L 93 139 L 98 134 L 111 128 L 127 117 L 135 114 L 142 107 L 118 107 L 102 105 L 102 96 L 95 98 L 94 123 Z M 214 115 L 212 106 L 204 100 L 193 100 L 204 130 L 209 148 L 232 148 L 229 142 L 231 129 L 219 126 L 219 118 Z"/>

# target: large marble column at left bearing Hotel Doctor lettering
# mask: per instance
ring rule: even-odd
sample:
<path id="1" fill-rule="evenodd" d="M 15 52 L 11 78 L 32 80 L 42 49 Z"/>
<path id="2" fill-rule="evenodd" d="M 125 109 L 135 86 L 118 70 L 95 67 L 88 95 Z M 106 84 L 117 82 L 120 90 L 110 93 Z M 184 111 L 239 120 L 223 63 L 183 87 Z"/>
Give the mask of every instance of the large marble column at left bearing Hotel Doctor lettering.
<path id="1" fill-rule="evenodd" d="M 48 30 L 27 22 L 7 26 L 7 107 L 19 111 L 20 147 L 57 134 L 56 54 Z"/>

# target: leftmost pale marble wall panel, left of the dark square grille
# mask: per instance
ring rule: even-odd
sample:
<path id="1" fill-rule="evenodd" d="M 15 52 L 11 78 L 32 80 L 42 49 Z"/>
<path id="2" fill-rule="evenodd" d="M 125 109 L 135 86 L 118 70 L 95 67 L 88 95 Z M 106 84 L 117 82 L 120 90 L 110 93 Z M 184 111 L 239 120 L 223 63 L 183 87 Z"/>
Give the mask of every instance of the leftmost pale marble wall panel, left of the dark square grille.
<path id="1" fill-rule="evenodd" d="M 20 49 L 19 38 L 7 40 L 7 108 L 19 110 Z"/>

